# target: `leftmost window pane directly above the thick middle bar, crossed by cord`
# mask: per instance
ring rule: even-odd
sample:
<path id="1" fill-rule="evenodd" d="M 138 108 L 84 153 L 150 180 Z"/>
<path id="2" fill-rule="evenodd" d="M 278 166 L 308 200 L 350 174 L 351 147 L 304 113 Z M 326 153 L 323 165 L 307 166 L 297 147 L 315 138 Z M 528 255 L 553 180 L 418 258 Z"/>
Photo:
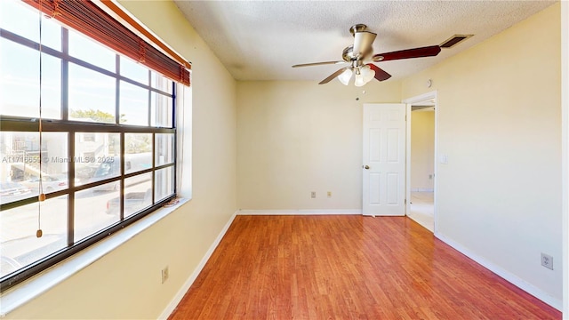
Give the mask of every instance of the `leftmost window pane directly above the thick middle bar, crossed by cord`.
<path id="1" fill-rule="evenodd" d="M 0 39 L 0 114 L 39 116 L 39 52 Z M 42 54 L 42 117 L 61 117 L 61 60 Z"/>

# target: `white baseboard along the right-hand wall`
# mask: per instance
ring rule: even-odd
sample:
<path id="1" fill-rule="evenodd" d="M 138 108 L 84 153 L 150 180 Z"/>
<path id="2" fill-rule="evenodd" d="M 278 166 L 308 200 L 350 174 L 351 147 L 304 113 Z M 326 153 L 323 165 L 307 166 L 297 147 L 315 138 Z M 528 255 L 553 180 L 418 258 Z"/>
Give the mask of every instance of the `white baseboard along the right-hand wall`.
<path id="1" fill-rule="evenodd" d="M 557 308 L 557 310 L 559 311 L 561 311 L 561 309 L 563 308 L 563 302 L 561 300 L 552 297 L 547 292 L 543 292 L 541 289 L 535 287 L 533 284 L 528 284 L 527 282 L 525 282 L 525 280 L 521 279 L 516 275 L 513 275 L 508 270 L 496 266 L 492 262 L 485 260 L 476 253 L 469 251 L 469 249 L 465 248 L 461 244 L 456 243 L 455 241 L 441 235 L 438 232 L 435 232 L 435 236 L 445 244 L 448 244 L 451 247 L 453 247 L 456 251 L 461 252 L 470 259 L 477 261 L 477 263 L 482 265 L 484 268 L 487 268 L 488 270 L 492 271 L 494 274 L 501 276 L 509 283 L 516 285 L 518 288 L 533 295 L 535 298 L 549 304 L 549 306 Z"/>

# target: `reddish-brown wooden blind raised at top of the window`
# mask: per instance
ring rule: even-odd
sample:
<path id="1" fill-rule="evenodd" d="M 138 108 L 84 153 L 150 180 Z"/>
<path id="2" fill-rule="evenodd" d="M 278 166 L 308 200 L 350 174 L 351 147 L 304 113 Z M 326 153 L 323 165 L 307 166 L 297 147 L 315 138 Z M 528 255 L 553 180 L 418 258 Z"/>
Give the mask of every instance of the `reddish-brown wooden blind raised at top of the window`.
<path id="1" fill-rule="evenodd" d="M 132 27 L 140 30 L 145 36 L 153 40 L 155 44 L 168 52 L 172 57 L 164 54 L 155 46 L 148 44 L 131 29 L 103 11 L 97 4 L 85 0 L 22 0 L 25 3 L 39 8 L 44 14 L 59 20 L 69 28 L 89 36 L 92 39 L 107 45 L 109 48 L 124 54 L 125 56 L 139 61 L 162 75 L 181 84 L 189 85 L 188 61 L 162 44 L 155 36 L 142 28 L 128 14 L 123 12 L 111 1 L 103 1 L 110 10 L 119 17 L 132 24 Z M 144 30 L 144 31 L 143 31 Z"/>

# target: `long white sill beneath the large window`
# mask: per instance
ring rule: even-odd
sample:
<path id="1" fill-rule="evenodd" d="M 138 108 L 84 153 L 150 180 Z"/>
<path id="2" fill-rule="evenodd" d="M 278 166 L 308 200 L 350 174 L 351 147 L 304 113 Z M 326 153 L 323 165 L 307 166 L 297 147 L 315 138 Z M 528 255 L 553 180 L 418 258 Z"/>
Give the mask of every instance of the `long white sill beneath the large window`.
<path id="1" fill-rule="evenodd" d="M 127 228 L 117 231 L 114 235 L 100 240 L 100 242 L 61 261 L 52 268 L 48 268 L 21 284 L 16 284 L 13 288 L 6 290 L 6 292 L 0 295 L 0 300 L 2 300 L 0 303 L 0 318 L 7 316 L 14 309 L 19 308 L 28 301 L 50 290 L 55 285 L 60 284 L 81 269 L 91 265 L 94 261 L 100 260 L 100 258 L 108 254 L 108 252 L 112 252 L 133 236 L 140 234 L 145 229 L 154 225 L 158 220 L 162 220 L 165 216 L 189 201 L 188 199 L 181 198 L 178 200 L 178 204 L 160 208 L 156 210 L 156 212 L 152 212 L 148 214 L 148 216 L 132 223 L 132 225 Z"/>

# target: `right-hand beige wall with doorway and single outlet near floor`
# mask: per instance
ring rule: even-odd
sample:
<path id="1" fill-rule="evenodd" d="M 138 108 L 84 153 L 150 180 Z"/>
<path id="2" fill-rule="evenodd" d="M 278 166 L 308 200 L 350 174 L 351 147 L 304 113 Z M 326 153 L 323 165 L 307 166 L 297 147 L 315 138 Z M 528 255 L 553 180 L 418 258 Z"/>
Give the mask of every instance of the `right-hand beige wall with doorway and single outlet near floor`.
<path id="1" fill-rule="evenodd" d="M 560 5 L 403 82 L 437 90 L 437 234 L 561 308 Z M 553 256 L 554 270 L 540 265 Z M 559 261 L 559 262 L 555 262 Z"/>

